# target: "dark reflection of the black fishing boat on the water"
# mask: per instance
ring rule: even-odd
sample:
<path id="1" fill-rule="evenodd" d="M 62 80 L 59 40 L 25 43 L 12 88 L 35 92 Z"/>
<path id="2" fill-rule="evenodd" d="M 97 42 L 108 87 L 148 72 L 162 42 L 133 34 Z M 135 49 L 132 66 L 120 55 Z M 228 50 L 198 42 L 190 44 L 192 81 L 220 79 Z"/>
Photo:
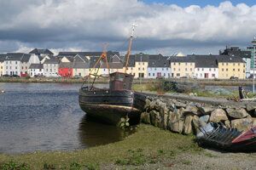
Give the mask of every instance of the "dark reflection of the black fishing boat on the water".
<path id="1" fill-rule="evenodd" d="M 135 129 L 120 129 L 119 127 L 98 122 L 90 116 L 84 116 L 79 124 L 79 140 L 84 147 L 109 144 L 125 139 L 135 133 Z"/>

